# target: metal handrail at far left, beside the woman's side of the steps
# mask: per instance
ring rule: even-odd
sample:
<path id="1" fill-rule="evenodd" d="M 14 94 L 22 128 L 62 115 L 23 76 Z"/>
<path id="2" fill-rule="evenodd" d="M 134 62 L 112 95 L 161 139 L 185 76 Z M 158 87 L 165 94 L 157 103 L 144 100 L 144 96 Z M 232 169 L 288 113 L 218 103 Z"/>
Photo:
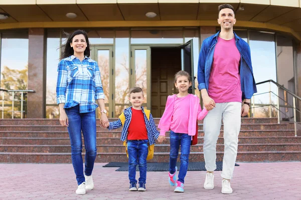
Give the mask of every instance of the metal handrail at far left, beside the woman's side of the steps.
<path id="1" fill-rule="evenodd" d="M 14 118 L 14 113 L 15 112 L 21 112 L 21 118 L 23 118 L 23 112 L 25 112 L 25 110 L 23 110 L 23 101 L 25 101 L 24 100 L 24 92 L 26 92 L 26 93 L 28 93 L 28 92 L 35 92 L 35 90 L 32 90 L 32 89 L 2 89 L 2 88 L 0 88 L 0 91 L 3 91 L 3 93 L 2 93 L 2 99 L 0 99 L 0 100 L 2 100 L 2 118 L 4 118 L 4 101 L 5 101 L 5 99 L 4 99 L 4 92 L 12 92 L 12 97 L 13 97 L 13 99 L 12 99 L 12 111 L 10 111 L 10 112 L 12 112 L 12 118 Z M 15 92 L 21 92 L 21 100 L 15 100 L 14 98 L 15 98 Z M 19 110 L 15 110 L 14 108 L 15 108 L 15 101 L 21 101 L 21 110 L 19 111 Z"/>

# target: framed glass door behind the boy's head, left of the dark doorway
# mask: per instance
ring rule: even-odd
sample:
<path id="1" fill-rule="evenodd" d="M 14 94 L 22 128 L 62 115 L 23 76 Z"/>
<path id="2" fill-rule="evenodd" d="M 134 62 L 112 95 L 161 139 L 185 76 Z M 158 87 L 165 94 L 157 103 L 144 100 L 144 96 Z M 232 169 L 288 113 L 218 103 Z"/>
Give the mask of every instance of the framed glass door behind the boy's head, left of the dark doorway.
<path id="1" fill-rule="evenodd" d="M 141 87 L 144 93 L 142 106 L 150 109 L 150 47 L 142 45 L 131 46 L 130 88 Z"/>

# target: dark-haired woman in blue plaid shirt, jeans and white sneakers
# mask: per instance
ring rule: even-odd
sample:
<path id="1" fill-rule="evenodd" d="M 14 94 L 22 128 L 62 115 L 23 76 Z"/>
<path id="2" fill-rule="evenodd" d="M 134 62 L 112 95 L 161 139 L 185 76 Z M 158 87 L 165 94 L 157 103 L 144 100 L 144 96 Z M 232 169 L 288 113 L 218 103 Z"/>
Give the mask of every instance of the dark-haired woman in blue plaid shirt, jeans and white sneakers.
<path id="1" fill-rule="evenodd" d="M 104 109 L 104 93 L 97 62 L 89 58 L 90 44 L 87 32 L 76 30 L 62 46 L 58 65 L 57 103 L 60 107 L 60 123 L 68 126 L 71 142 L 71 158 L 76 174 L 77 194 L 85 194 L 94 187 L 92 170 L 96 158 L 95 109 L 100 106 L 100 124 L 108 122 Z M 97 100 L 98 105 L 95 103 Z M 82 138 L 86 154 L 83 172 Z"/>

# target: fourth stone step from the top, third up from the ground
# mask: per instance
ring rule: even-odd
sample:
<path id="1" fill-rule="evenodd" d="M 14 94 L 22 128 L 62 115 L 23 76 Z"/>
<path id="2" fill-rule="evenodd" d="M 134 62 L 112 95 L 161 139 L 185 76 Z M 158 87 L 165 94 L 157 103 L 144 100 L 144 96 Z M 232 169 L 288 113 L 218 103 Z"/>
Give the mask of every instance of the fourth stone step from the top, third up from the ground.
<path id="1" fill-rule="evenodd" d="M 169 144 L 169 137 L 162 144 Z M 97 144 L 122 144 L 117 137 L 97 137 Z M 218 144 L 224 142 L 222 137 L 217 140 Z M 84 143 L 84 142 L 83 142 Z M 203 143 L 203 137 L 198 137 L 198 143 Z M 238 143 L 301 143 L 301 136 L 262 136 L 262 137 L 239 137 Z M 0 144 L 36 144 L 36 145 L 67 145 L 69 137 L 0 137 Z"/>

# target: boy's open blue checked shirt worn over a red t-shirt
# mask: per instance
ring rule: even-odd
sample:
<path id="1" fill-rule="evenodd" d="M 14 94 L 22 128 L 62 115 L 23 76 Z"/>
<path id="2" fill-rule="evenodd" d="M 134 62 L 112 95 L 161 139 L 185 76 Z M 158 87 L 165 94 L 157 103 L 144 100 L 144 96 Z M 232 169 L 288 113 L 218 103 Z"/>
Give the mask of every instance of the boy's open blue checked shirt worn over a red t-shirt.
<path id="1" fill-rule="evenodd" d="M 131 111 L 131 107 L 125 108 L 123 110 L 124 116 L 125 116 L 125 121 L 124 121 L 124 125 L 121 131 L 121 141 L 125 141 L 127 139 L 127 129 L 129 126 L 129 123 L 131 121 L 131 116 L 132 116 L 132 111 Z M 147 131 L 147 137 L 148 137 L 148 143 L 149 145 L 155 144 L 156 143 L 156 139 L 159 137 L 159 131 L 157 130 L 154 118 L 152 116 L 151 113 L 149 113 L 149 120 L 147 119 L 147 116 L 144 112 L 144 108 L 143 106 L 141 106 L 142 108 L 142 112 L 144 115 L 144 121 L 145 121 L 145 125 L 146 125 L 146 131 Z M 108 129 L 112 130 L 115 128 L 120 128 L 122 126 L 121 120 L 118 119 L 117 121 L 112 121 L 109 124 Z"/>

